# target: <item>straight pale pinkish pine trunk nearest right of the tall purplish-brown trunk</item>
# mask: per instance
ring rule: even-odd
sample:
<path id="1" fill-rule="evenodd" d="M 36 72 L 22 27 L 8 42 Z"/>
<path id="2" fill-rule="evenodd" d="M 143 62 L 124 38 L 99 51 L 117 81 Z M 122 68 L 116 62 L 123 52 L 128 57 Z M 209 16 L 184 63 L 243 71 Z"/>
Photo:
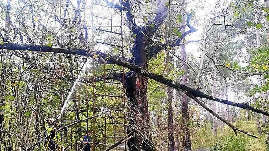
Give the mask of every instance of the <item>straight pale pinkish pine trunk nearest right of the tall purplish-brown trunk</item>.
<path id="1" fill-rule="evenodd" d="M 213 72 L 213 83 L 212 83 L 212 95 L 213 96 L 217 96 L 216 93 L 216 85 L 217 85 L 217 80 L 216 80 L 216 71 L 214 70 Z M 212 102 L 212 110 L 216 113 L 216 102 L 213 101 Z M 213 132 L 214 132 L 214 136 L 217 136 L 217 119 L 216 117 L 213 117 Z"/>

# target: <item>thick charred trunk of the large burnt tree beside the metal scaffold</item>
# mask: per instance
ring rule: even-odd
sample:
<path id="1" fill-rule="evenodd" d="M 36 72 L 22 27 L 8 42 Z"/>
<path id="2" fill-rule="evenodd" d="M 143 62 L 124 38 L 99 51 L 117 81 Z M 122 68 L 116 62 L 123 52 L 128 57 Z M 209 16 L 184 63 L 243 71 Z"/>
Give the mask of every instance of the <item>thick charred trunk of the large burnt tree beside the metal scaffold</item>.
<path id="1" fill-rule="evenodd" d="M 142 34 L 138 33 L 134 46 L 132 49 L 133 58 L 132 63 L 142 68 L 147 69 L 146 48 L 149 43 L 148 39 Z M 131 131 L 134 132 L 127 145 L 130 151 L 153 151 L 155 150 L 150 134 L 150 120 L 147 99 L 147 85 L 148 78 L 140 74 L 130 71 L 126 73 L 124 81 L 126 88 L 126 95 L 129 104 L 129 124 L 127 127 L 127 134 Z"/>

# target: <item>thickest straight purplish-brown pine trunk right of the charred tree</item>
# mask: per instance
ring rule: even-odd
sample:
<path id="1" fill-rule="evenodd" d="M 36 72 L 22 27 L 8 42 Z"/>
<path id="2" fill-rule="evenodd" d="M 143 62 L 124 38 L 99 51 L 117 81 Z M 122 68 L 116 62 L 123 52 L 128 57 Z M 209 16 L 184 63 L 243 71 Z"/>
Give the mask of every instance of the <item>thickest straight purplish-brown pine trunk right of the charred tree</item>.
<path id="1" fill-rule="evenodd" d="M 185 25 L 182 26 L 182 33 L 185 32 Z M 181 46 L 181 59 L 186 62 L 186 48 L 185 45 Z M 182 75 L 181 84 L 187 85 L 187 66 L 186 63 L 181 61 L 182 70 L 185 73 Z M 190 141 L 190 128 L 189 123 L 189 106 L 188 106 L 188 97 L 185 93 L 182 92 L 182 132 L 183 140 L 182 147 L 184 151 L 191 150 L 191 141 Z"/>

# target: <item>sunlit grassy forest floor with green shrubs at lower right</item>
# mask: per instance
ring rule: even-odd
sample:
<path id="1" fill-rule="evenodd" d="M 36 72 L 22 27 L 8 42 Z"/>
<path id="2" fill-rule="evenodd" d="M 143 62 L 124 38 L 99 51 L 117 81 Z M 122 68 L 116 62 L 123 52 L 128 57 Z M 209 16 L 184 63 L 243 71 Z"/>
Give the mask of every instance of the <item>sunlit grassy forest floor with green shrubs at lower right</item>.
<path id="1" fill-rule="evenodd" d="M 257 134 L 256 121 L 238 120 L 235 126 L 252 134 Z M 263 128 L 262 128 L 263 129 Z M 238 132 L 238 137 L 227 125 L 223 130 L 217 129 L 217 137 L 214 137 L 212 124 L 208 123 L 192 136 L 192 149 L 197 151 L 205 150 L 228 150 L 228 151 L 266 151 L 265 134 L 258 136 L 259 139 L 252 138 Z M 214 150 L 215 149 L 215 150 Z"/>

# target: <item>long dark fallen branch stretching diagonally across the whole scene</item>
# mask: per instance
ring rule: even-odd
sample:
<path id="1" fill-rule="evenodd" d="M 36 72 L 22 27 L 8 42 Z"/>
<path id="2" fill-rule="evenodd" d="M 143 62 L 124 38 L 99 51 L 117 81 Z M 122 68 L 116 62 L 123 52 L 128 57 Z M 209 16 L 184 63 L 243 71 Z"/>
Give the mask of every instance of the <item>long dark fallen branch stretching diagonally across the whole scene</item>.
<path id="1" fill-rule="evenodd" d="M 107 55 L 103 52 L 92 53 L 86 49 L 55 48 L 55 47 L 48 47 L 48 46 L 43 46 L 43 45 L 24 45 L 24 44 L 13 44 L 13 43 L 4 43 L 3 45 L 0 45 L 0 49 L 39 51 L 39 52 L 56 52 L 56 53 L 65 53 L 65 54 L 95 57 L 99 62 L 104 62 L 104 63 L 109 62 L 109 63 L 113 63 L 113 64 L 117 64 L 117 65 L 126 67 L 126 68 L 130 69 L 131 72 L 134 71 L 138 74 L 146 76 L 150 79 L 153 79 L 153 80 L 160 82 L 164 85 L 167 85 L 171 88 L 175 88 L 179 91 L 184 92 L 188 96 L 192 96 L 195 98 L 197 98 L 197 97 L 205 98 L 205 99 L 209 99 L 212 101 L 220 102 L 220 103 L 231 105 L 231 106 L 236 106 L 236 107 L 239 107 L 242 109 L 251 110 L 253 112 L 261 113 L 263 115 L 269 116 L 269 112 L 267 112 L 265 110 L 258 109 L 256 107 L 250 106 L 246 103 L 236 103 L 236 102 L 231 102 L 229 100 L 218 99 L 214 96 L 207 95 L 199 90 L 195 90 L 195 89 L 189 88 L 186 85 L 182 85 L 178 82 L 174 82 L 174 81 L 167 79 L 161 75 L 154 74 L 154 73 L 152 73 L 148 70 L 145 70 L 142 67 L 136 66 L 132 63 L 122 61 L 119 58 Z"/>

